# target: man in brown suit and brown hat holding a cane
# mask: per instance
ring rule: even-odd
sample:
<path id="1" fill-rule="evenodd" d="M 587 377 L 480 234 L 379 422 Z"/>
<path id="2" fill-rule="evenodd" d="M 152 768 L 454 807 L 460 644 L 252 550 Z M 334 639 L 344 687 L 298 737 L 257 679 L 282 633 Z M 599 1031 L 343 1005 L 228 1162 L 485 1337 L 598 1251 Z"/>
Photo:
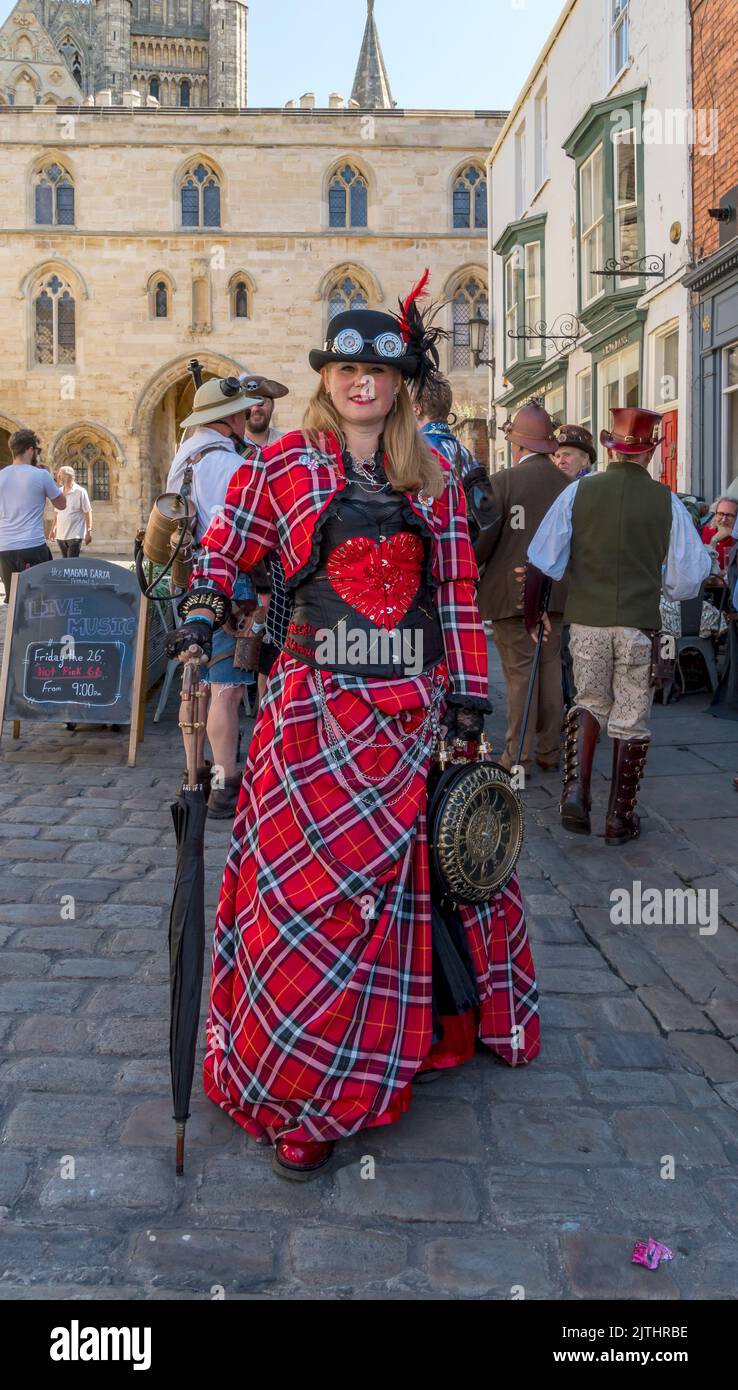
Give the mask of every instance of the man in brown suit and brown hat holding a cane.
<path id="1" fill-rule="evenodd" d="M 478 603 L 482 619 L 491 619 L 507 688 L 507 733 L 499 762 L 516 764 L 523 712 L 535 656 L 535 646 L 523 623 L 521 574 L 528 546 L 548 509 L 568 486 L 568 478 L 553 463 L 559 448 L 550 416 L 542 406 L 523 406 L 503 425 L 513 450 L 513 467 L 492 474 L 491 493 L 498 507 L 496 521 L 475 543 L 482 574 Z M 516 573 L 517 571 L 517 573 Z M 523 767 L 530 769 L 534 741 L 536 763 L 545 770 L 559 766 L 563 714 L 561 614 L 563 584 L 555 584 L 549 602 L 550 635 L 541 652 L 538 680 L 523 749 Z"/>

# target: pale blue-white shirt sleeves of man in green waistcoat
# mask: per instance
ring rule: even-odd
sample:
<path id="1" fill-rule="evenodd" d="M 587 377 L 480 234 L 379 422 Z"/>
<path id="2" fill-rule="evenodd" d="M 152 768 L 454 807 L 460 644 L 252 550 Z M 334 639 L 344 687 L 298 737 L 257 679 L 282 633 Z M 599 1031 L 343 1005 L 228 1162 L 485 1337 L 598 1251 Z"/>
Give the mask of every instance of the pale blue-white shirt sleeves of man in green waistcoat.
<path id="1" fill-rule="evenodd" d="M 535 564 L 552 580 L 563 578 L 571 555 L 571 512 L 577 488 L 582 484 L 587 486 L 591 478 L 596 477 L 598 474 L 592 473 L 588 478 L 577 478 L 559 493 L 528 546 L 531 564 Z M 702 543 L 684 502 L 680 502 L 673 492 L 671 534 L 662 577 L 664 596 L 667 599 L 696 598 L 710 570 L 712 560 L 707 548 Z"/>

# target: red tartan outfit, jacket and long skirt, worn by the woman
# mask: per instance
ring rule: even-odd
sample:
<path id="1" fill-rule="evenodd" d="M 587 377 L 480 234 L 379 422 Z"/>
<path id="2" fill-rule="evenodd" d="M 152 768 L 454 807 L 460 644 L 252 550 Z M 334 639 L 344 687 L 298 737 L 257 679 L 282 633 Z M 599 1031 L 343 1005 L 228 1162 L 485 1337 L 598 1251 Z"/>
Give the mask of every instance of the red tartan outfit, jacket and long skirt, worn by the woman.
<path id="1" fill-rule="evenodd" d="M 288 585 L 302 581 L 315 523 L 346 486 L 338 439 L 320 443 L 295 431 L 238 468 L 195 587 L 229 596 L 238 573 L 275 548 Z M 466 1061 L 477 1036 L 511 1066 L 539 1049 L 516 877 L 492 902 L 459 908 L 481 1002 L 443 1019 L 432 1045 L 431 744 L 417 734 L 434 699 L 452 689 L 479 703 L 488 685 L 464 495 L 441 463 L 442 498 L 404 496 L 431 538 L 446 660 L 384 680 L 318 676 L 285 651 L 254 727 L 215 920 L 204 1087 L 256 1137 L 338 1140 L 392 1123 L 416 1073 Z M 338 770 L 321 681 L 353 738 Z M 367 794 L 367 781 L 384 787 Z"/>

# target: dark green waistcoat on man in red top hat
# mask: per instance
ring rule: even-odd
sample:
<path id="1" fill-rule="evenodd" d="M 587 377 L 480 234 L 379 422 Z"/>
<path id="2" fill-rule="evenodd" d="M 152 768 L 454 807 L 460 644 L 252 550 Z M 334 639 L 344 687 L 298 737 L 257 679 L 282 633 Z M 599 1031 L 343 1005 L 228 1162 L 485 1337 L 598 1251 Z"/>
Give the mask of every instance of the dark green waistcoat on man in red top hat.
<path id="1" fill-rule="evenodd" d="M 571 514 L 566 623 L 660 628 L 671 493 L 638 463 L 582 478 Z"/>

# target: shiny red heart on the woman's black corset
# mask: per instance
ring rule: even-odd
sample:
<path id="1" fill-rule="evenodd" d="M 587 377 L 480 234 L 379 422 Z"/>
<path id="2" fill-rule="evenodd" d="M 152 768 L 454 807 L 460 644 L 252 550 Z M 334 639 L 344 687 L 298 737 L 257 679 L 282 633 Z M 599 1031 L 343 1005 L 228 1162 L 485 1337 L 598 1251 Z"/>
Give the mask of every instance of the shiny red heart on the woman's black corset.
<path id="1" fill-rule="evenodd" d="M 399 531 L 388 541 L 354 535 L 331 552 L 325 573 L 336 594 L 364 617 L 392 631 L 418 588 L 423 541 Z"/>

